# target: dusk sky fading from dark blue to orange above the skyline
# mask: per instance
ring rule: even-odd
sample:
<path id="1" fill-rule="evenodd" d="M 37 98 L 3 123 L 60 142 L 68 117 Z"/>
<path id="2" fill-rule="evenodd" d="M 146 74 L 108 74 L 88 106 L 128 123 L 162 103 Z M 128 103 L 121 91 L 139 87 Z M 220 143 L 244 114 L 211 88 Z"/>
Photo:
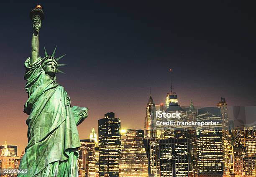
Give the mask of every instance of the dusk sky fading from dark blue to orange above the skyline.
<path id="1" fill-rule="evenodd" d="M 67 54 L 57 82 L 72 105 L 89 107 L 79 125 L 88 139 L 110 111 L 122 128 L 143 129 L 146 103 L 173 91 L 179 104 L 256 105 L 254 5 L 223 1 L 31 1 L 2 3 L 0 10 L 0 144 L 27 143 L 24 61 L 31 53 L 29 11 L 42 5 L 43 48 Z M 55 1 L 56 2 L 56 1 Z"/>

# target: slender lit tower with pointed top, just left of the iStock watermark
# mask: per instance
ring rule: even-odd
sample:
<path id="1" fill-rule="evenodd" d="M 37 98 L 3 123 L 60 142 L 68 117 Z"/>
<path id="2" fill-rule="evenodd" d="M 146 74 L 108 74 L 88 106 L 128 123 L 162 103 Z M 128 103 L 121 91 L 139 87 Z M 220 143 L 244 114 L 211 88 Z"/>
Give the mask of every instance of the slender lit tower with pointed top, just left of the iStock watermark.
<path id="1" fill-rule="evenodd" d="M 156 107 L 151 96 L 146 109 L 144 136 L 145 138 L 156 138 Z"/>

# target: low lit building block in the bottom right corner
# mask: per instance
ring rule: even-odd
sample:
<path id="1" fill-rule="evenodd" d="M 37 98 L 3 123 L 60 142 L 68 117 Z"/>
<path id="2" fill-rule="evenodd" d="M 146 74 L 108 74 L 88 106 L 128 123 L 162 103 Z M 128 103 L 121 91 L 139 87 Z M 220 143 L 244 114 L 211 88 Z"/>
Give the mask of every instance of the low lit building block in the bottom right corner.
<path id="1" fill-rule="evenodd" d="M 243 165 L 246 177 L 256 177 L 256 154 L 245 155 Z"/>

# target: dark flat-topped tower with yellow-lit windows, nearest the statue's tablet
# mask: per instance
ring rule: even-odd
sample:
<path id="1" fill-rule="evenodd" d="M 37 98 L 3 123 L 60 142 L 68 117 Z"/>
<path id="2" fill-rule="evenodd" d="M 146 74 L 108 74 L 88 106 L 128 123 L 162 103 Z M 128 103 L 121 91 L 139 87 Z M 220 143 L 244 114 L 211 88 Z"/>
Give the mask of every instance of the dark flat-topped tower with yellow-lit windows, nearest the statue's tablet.
<path id="1" fill-rule="evenodd" d="M 121 151 L 120 119 L 113 112 L 99 120 L 100 177 L 118 177 Z"/>

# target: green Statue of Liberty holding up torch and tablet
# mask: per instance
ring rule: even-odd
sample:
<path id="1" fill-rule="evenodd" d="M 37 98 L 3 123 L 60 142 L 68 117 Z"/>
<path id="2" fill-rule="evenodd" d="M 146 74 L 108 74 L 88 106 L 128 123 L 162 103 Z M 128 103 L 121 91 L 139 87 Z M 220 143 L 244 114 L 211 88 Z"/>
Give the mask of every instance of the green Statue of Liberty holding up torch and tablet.
<path id="1" fill-rule="evenodd" d="M 69 96 L 56 83 L 61 72 L 55 50 L 39 56 L 39 31 L 44 13 L 40 5 L 31 11 L 33 34 L 31 56 L 25 61 L 28 100 L 24 112 L 28 114 L 28 145 L 20 162 L 18 177 L 78 177 L 77 157 L 81 146 L 77 125 L 87 117 L 87 109 L 74 116 Z"/>

